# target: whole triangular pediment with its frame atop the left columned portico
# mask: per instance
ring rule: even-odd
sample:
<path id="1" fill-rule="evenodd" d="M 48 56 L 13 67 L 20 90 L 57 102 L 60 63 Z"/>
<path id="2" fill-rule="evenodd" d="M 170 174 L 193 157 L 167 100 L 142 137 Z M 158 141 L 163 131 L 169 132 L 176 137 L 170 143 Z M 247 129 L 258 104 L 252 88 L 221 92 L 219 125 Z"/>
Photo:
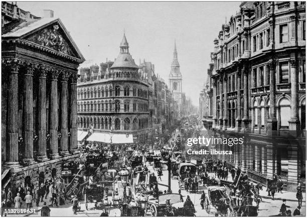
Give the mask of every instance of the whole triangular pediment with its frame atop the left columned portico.
<path id="1" fill-rule="evenodd" d="M 82 55 L 75 43 L 59 20 L 45 27 L 31 31 L 31 34 L 22 39 L 52 49 L 56 52 L 82 59 Z"/>

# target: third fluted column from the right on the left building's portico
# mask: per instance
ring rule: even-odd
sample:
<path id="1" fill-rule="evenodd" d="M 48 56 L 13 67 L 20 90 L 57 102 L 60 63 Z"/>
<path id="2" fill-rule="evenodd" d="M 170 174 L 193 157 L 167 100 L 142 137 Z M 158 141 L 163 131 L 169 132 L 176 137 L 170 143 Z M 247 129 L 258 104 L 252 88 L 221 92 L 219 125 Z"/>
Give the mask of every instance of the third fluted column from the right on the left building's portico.
<path id="1" fill-rule="evenodd" d="M 51 94 L 50 94 L 50 157 L 60 157 L 58 151 L 58 76 L 59 71 L 51 70 Z"/>

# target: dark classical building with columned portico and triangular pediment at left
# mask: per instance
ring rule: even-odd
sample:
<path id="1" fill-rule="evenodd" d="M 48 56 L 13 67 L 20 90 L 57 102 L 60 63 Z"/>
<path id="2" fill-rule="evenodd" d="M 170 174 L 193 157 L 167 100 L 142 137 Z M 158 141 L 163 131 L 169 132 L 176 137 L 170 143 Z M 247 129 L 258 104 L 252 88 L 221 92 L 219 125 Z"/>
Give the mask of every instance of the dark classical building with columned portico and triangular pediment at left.
<path id="1" fill-rule="evenodd" d="M 6 2 L 2 13 L 2 184 L 38 184 L 78 155 L 77 68 L 84 58 L 60 19 Z"/>

